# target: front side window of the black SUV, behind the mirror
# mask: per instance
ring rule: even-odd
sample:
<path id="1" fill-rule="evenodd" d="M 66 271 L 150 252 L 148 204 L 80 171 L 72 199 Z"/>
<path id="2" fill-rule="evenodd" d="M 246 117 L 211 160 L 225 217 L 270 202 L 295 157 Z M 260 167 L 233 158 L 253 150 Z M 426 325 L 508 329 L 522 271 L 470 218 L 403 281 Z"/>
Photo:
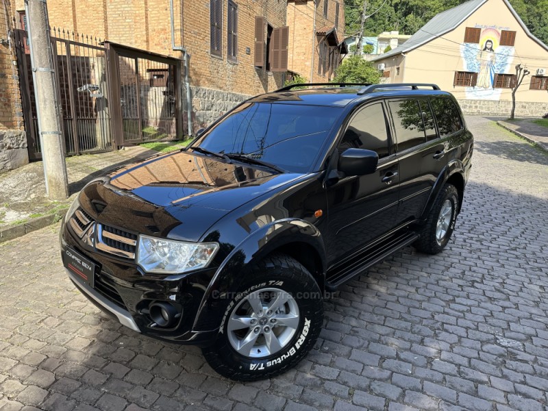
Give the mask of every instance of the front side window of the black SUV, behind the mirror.
<path id="1" fill-rule="evenodd" d="M 338 146 L 341 152 L 349 148 L 373 150 L 379 158 L 388 155 L 388 132 L 381 103 L 362 108 L 350 121 Z"/>

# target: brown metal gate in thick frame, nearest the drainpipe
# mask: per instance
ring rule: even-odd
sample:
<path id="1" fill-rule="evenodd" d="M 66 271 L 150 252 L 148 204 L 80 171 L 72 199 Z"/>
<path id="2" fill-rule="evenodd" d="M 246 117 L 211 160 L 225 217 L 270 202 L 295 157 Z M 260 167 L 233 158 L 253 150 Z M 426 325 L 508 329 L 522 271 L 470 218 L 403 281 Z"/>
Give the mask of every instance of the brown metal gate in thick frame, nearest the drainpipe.
<path id="1" fill-rule="evenodd" d="M 116 145 L 182 138 L 181 60 L 105 42 L 118 84 L 112 86 Z"/>

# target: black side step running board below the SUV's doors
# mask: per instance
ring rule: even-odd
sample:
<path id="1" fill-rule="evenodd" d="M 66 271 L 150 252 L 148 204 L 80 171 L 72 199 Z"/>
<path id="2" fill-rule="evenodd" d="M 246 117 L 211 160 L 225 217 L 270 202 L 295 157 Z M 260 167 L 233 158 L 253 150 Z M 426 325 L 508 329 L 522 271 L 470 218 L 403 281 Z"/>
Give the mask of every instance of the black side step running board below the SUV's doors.
<path id="1" fill-rule="evenodd" d="M 412 244 L 417 238 L 419 238 L 419 234 L 407 232 L 390 236 L 386 240 L 364 249 L 364 251 L 349 258 L 343 264 L 327 271 L 325 290 L 329 292 L 336 291 L 345 282 L 356 277 L 356 275 L 364 273 L 373 264 L 377 264 L 393 252 Z"/>

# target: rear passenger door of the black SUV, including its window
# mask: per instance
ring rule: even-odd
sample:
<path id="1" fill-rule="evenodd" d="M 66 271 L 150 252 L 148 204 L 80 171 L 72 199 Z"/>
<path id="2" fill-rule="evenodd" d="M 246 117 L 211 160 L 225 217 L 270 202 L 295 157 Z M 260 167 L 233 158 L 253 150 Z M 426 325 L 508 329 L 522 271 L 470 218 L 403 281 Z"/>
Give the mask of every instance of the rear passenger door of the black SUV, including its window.
<path id="1" fill-rule="evenodd" d="M 432 187 L 443 169 L 445 146 L 438 138 L 427 99 L 388 102 L 399 159 L 398 223 L 421 216 Z"/>

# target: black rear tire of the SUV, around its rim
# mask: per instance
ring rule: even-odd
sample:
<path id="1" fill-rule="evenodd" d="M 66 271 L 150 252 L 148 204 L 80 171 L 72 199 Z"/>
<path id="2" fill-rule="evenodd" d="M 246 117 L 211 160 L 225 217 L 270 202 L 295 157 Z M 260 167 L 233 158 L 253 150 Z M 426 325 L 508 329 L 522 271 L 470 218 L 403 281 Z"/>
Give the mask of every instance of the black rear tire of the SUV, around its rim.
<path id="1" fill-rule="evenodd" d="M 447 203 L 447 201 L 449 203 Z M 437 254 L 445 248 L 455 229 L 458 202 L 457 189 L 451 184 L 446 184 L 438 194 L 436 201 L 434 201 L 434 206 L 432 206 L 432 210 L 430 210 L 430 214 L 428 214 L 426 224 L 419 233 L 421 237 L 413 244 L 417 251 L 427 254 Z M 438 238 L 438 235 L 436 235 L 438 220 L 441 218 L 440 213 L 443 212 L 443 210 L 446 210 L 447 204 L 450 204 L 451 206 L 451 215 L 447 225 L 447 231 L 445 231 L 445 234 L 441 238 Z"/>

